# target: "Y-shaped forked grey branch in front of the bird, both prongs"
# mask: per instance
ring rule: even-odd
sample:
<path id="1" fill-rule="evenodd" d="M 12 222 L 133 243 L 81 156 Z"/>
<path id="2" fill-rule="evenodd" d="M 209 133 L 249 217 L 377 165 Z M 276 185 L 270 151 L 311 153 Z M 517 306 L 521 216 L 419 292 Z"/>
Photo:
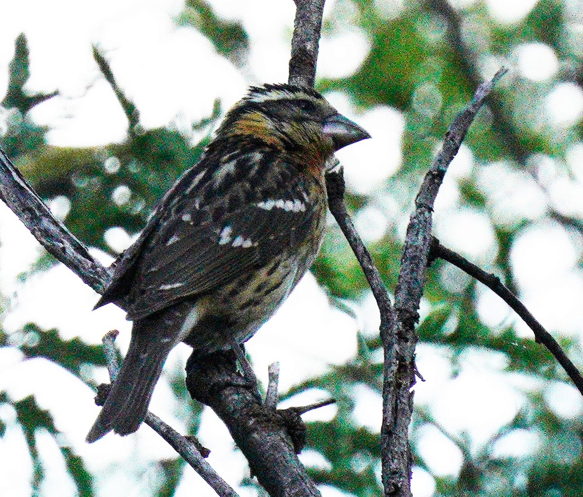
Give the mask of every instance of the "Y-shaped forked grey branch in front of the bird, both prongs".
<path id="1" fill-rule="evenodd" d="M 328 205 L 345 234 L 381 311 L 383 366 L 383 422 L 381 431 L 382 482 L 385 495 L 408 497 L 410 493 L 411 456 L 408 429 L 413 411 L 410 387 L 415 383 L 413 355 L 417 338 L 414 326 L 423 293 L 425 269 L 431 241 L 431 212 L 441 181 L 454 159 L 463 138 L 484 99 L 505 74 L 498 71 L 489 83 L 481 85 L 470 104 L 459 113 L 448 129 L 444 145 L 431 165 L 416 198 L 401 258 L 401 273 L 393 309 L 380 272 L 356 233 L 343 202 L 342 170 L 326 174 Z M 395 316 L 398 316 L 398 319 Z"/>

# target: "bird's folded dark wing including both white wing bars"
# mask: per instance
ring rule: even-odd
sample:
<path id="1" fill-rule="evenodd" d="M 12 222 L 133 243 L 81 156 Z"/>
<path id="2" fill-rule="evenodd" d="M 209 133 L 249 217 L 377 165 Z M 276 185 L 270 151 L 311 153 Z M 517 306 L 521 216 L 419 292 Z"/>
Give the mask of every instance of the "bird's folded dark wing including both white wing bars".
<path id="1" fill-rule="evenodd" d="M 307 201 L 306 185 L 297 178 L 285 191 L 252 198 L 230 208 L 231 195 L 206 205 L 184 197 L 170 202 L 170 215 L 138 240 L 122 260 L 117 293 L 128 318 L 140 319 L 187 296 L 234 281 L 254 268 L 303 243 L 322 215 Z M 321 192 L 323 195 L 324 193 Z M 237 203 L 237 202 L 235 202 Z M 148 228 L 148 227 L 147 227 Z M 121 290 L 121 291 L 120 291 Z M 114 301 L 106 293 L 103 299 Z M 102 299 L 102 300 L 103 300 Z"/>

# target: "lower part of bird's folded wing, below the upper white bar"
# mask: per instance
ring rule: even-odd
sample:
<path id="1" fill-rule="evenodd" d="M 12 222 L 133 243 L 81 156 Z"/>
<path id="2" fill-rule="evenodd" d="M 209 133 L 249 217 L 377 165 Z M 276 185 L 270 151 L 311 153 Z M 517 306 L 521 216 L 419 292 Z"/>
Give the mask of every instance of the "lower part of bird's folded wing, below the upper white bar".
<path id="1" fill-rule="evenodd" d="M 187 296 L 226 285 L 262 267 L 310 236 L 312 209 L 270 211 L 249 205 L 220 225 L 209 219 L 176 226 L 139 261 L 129 293 L 128 318 L 138 319 Z M 178 234 L 174 234 L 178 233 Z"/>

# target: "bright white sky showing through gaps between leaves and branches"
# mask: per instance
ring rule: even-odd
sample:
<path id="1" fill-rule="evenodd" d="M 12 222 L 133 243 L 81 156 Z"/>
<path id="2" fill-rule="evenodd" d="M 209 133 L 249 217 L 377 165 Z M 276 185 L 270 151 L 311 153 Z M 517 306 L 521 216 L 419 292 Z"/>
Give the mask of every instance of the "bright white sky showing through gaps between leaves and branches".
<path id="1" fill-rule="evenodd" d="M 38 106 L 33 114 L 40 124 L 50 126 L 49 137 L 55 145 L 100 145 L 124 138 L 125 117 L 111 89 L 100 78 L 92 59 L 92 44 L 98 44 L 106 53 L 121 87 L 138 105 L 142 124 L 146 127 L 169 122 L 188 124 L 208 115 L 216 97 L 220 97 L 223 107 L 228 108 L 251 83 L 285 81 L 293 2 L 239 0 L 212 3 L 221 15 L 241 19 L 251 34 L 248 74 L 241 74 L 218 57 L 210 43 L 194 30 L 174 25 L 172 17 L 182 8 L 180 0 L 1 2 L 0 93 L 3 93 L 8 78 L 3 68 L 8 66 L 13 42 L 21 31 L 27 34 L 31 51 L 29 89 L 31 92 L 58 89 L 61 93 L 61 96 Z M 328 1 L 327 9 L 331 9 L 334 3 Z M 470 2 L 460 0 L 456 3 L 467 5 Z M 533 3 L 491 0 L 490 9 L 500 22 L 514 22 L 524 17 Z M 351 74 L 366 57 L 367 50 L 368 42 L 346 27 L 333 37 L 322 40 L 319 74 Z M 540 64 L 541 59 L 533 54 L 542 57 L 546 64 Z M 550 78 L 557 70 L 556 57 L 553 57 L 546 47 L 521 48 L 517 55 L 518 69 L 525 77 L 535 80 Z M 189 64 L 188 61 L 193 62 Z M 382 137 L 357 143 L 339 154 L 345 165 L 347 181 L 354 190 L 374 191 L 399 167 L 399 145 L 404 125 L 402 115 L 389 107 L 355 114 L 345 96 L 328 95 L 328 98 L 340 111 L 368 129 L 373 137 Z M 573 107 L 577 107 L 573 103 L 577 103 L 577 95 L 570 94 L 569 98 L 570 105 L 563 107 L 566 112 L 573 113 Z M 578 98 L 583 100 L 580 95 Z M 559 99 L 553 108 L 561 108 L 560 101 L 564 99 Z M 560 118 L 561 115 L 557 119 Z M 444 185 L 440 194 L 444 211 L 455 208 L 456 175 L 462 177 L 473 166 L 469 150 L 463 149 L 455 164 L 457 172 L 452 170 L 451 183 Z M 468 240 L 467 246 L 461 247 L 465 253 L 479 254 L 484 244 L 490 243 L 491 227 L 487 220 L 476 219 L 472 212 L 455 211 L 455 217 L 451 211 L 445 212 L 448 215 L 437 219 L 436 229 L 441 229 L 444 236 L 459 236 L 458 243 L 460 238 Z M 379 217 L 378 213 L 370 214 Z M 368 225 L 367 219 L 357 219 L 359 222 L 372 233 L 382 233 L 382 229 L 374 230 L 370 219 Z M 469 230 L 477 230 L 473 232 L 477 233 L 476 236 L 468 236 Z M 537 233 L 531 233 L 531 236 L 537 236 Z M 561 234 L 557 236 L 560 239 Z M 130 326 L 124 314 L 112 305 L 90 311 L 97 295 L 68 269 L 51 269 L 47 274 L 35 276 L 26 286 L 15 282 L 15 276 L 35 260 L 38 245 L 3 205 L 0 206 L 0 241 L 0 288 L 5 295 L 12 297 L 12 307 L 4 322 L 6 330 L 17 330 L 24 323 L 34 321 L 43 328 L 58 327 L 65 339 L 79 336 L 87 342 L 97 343 L 106 331 L 118 328 L 122 332 L 120 345 L 124 349 L 127 347 Z M 568 255 L 561 258 L 559 268 L 563 271 L 561 274 L 565 274 L 580 254 L 568 253 L 570 244 L 567 240 L 559 245 Z M 553 250 L 556 249 L 554 246 Z M 104 263 L 110 262 L 106 259 L 104 257 Z M 528 274 L 526 269 L 525 274 Z M 452 284 L 458 283 L 454 281 Z M 581 285 L 580 279 L 576 278 L 572 284 Z M 484 305 L 495 311 L 494 318 L 490 319 L 497 320 L 497 323 L 508 320 L 505 308 L 485 293 Z M 269 363 L 280 361 L 280 386 L 286 390 L 299 380 L 322 372 L 331 363 L 346 361 L 356 351 L 357 331 L 370 334 L 378 327 L 378 311 L 371 299 L 365 299 L 356 314 L 357 320 L 354 320 L 332 310 L 324 292 L 308 275 L 279 313 L 248 342 L 259 378 L 266 379 Z M 484 316 L 491 314 L 484 312 Z M 307 345 L 308 350 L 305 349 Z M 485 361 L 477 352 L 469 351 L 461 374 L 452 380 L 446 354 L 428 347 L 419 348 L 417 363 L 426 382 L 416 387 L 416 403 L 431 405 L 445 428 L 454 433 L 469 432 L 479 443 L 500 424 L 514 417 L 524 402 L 521 393 L 524 379 L 517 377 L 510 379 L 509 383 L 508 378 L 503 379 L 498 373 L 503 368 L 501 360 L 498 363 L 493 363 L 492 358 Z M 187 356 L 186 346 L 177 347 L 167 362 L 167 369 L 182 369 Z M 106 377 L 104 371 L 99 372 L 100 380 L 106 381 Z M 570 402 L 571 415 L 581 414 L 578 397 L 561 388 L 550 386 L 549 398 L 559 396 L 563 404 Z M 41 407 L 51 410 L 57 428 L 65 433 L 64 443 L 71 445 L 87 461 L 94 474 L 104 475 L 96 482 L 99 495 L 148 495 L 147 489 L 153 484 L 156 473 L 145 466 L 147 461 L 174 457 L 173 451 L 147 426 L 127 438 L 108 435 L 100 442 L 87 445 L 85 435 L 98 412 L 93 404 L 93 393 L 46 361 L 23 362 L 15 351 L 0 349 L 0 390 L 8 391 L 14 400 L 34 394 Z M 357 422 L 378 430 L 381 400 L 371 391 L 361 390 L 354 417 Z M 559 393 L 556 394 L 555 390 Z M 470 392 L 479 392 L 479 396 L 472 396 Z M 170 405 L 170 398 L 168 385 L 161 381 L 150 408 L 180 430 L 181 421 L 176 419 L 175 406 Z M 296 404 L 310 403 L 319 398 L 319 394 L 314 393 L 297 400 Z M 495 410 L 494 406 L 498 409 Z M 326 407 L 306 418 L 329 419 L 334 412 L 333 407 Z M 13 416 L 10 408 L 0 405 L 0 418 L 9 421 Z M 40 443 L 41 453 L 47 461 L 48 481 L 44 495 L 72 495 L 72 484 L 62 480 L 65 471 L 59 466 L 57 447 L 48 435 L 40 438 L 44 440 Z M 203 415 L 201 439 L 212 449 L 210 463 L 236 486 L 245 471 L 243 457 L 233 451 L 226 429 L 212 412 L 205 411 Z M 525 435 L 514 441 L 510 448 L 501 447 L 500 450 L 516 450 L 516 447 L 528 446 L 531 442 Z M 461 454 L 440 433 L 423 433 L 420 450 L 426 454 L 437 474 L 454 475 L 459 471 Z M 326 464 L 314 454 L 306 454 L 305 459 L 312 464 Z M 106 473 L 110 470 L 113 473 Z M 31 471 L 22 434 L 9 428 L 0 439 L 0 495 L 29 494 Z M 185 474 L 177 493 L 179 497 L 213 495 L 192 470 L 187 468 Z M 429 475 L 416 471 L 414 483 L 416 497 L 432 494 L 433 479 Z M 322 490 L 325 495 L 335 495 L 332 489 Z M 245 489 L 238 491 L 241 495 L 249 494 Z"/>

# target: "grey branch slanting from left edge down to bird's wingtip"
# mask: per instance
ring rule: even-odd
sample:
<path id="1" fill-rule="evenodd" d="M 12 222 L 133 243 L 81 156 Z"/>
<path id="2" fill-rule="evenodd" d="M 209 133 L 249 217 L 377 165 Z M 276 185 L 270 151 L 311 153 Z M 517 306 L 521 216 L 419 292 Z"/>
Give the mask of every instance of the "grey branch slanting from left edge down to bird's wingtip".
<path id="1" fill-rule="evenodd" d="M 103 293 L 109 272 L 51 211 L 0 149 L 0 199 L 33 236 L 97 293 Z"/>

